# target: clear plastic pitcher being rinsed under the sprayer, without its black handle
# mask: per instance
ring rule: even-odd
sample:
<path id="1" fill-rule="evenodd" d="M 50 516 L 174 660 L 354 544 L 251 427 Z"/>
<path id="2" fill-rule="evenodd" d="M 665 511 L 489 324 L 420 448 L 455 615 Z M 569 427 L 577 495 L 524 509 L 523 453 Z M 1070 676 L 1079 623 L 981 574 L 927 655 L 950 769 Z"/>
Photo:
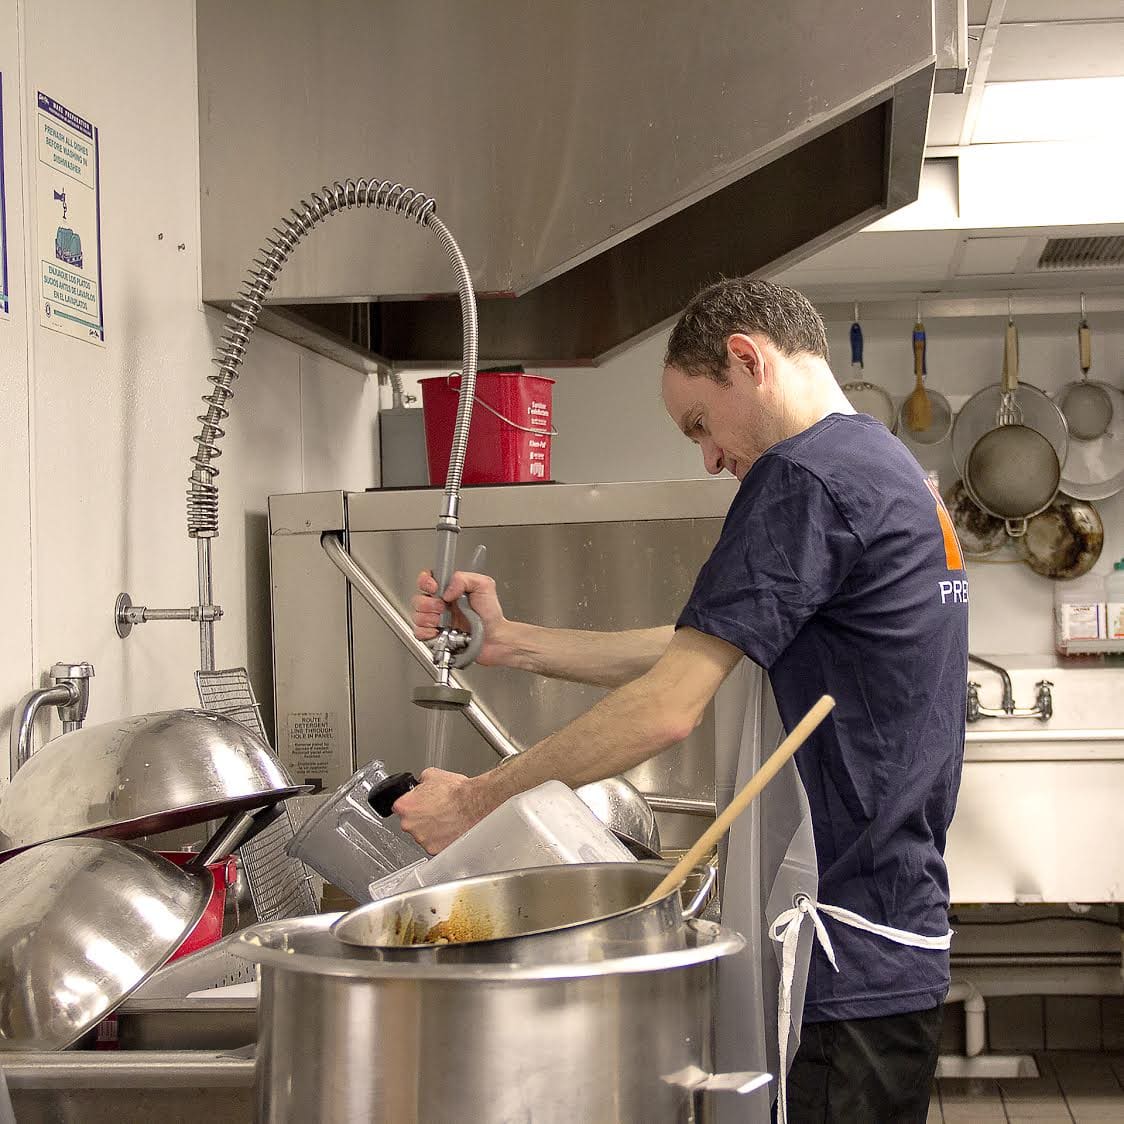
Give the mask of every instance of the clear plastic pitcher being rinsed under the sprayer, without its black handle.
<path id="1" fill-rule="evenodd" d="M 287 847 L 293 859 L 356 901 L 368 899 L 372 881 L 427 858 L 397 821 L 382 819 L 368 803 L 374 786 L 386 779 L 381 761 L 363 765 L 309 816 Z"/>

